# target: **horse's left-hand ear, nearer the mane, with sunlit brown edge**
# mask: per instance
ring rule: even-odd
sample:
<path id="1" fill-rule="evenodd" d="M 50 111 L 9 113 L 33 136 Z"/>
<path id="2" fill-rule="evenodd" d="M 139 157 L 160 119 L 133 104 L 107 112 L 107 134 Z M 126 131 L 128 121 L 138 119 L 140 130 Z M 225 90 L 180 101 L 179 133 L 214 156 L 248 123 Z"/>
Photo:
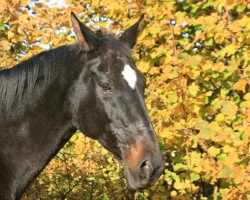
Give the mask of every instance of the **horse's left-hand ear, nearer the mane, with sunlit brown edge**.
<path id="1" fill-rule="evenodd" d="M 98 47 L 100 40 L 90 28 L 80 22 L 73 12 L 71 12 L 71 23 L 78 42 L 81 44 L 84 51 L 93 50 Z"/>

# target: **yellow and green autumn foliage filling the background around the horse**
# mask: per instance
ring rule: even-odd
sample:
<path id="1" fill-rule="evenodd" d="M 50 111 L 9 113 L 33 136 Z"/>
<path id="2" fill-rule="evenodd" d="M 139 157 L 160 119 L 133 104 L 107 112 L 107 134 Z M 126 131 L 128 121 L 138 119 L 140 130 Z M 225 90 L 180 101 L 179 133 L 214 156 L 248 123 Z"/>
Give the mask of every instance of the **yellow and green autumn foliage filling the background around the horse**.
<path id="1" fill-rule="evenodd" d="M 75 134 L 22 199 L 250 198 L 248 0 L 1 0 L 0 68 L 75 42 L 69 12 L 117 34 L 146 13 L 133 50 L 166 169 L 148 190 Z"/>

